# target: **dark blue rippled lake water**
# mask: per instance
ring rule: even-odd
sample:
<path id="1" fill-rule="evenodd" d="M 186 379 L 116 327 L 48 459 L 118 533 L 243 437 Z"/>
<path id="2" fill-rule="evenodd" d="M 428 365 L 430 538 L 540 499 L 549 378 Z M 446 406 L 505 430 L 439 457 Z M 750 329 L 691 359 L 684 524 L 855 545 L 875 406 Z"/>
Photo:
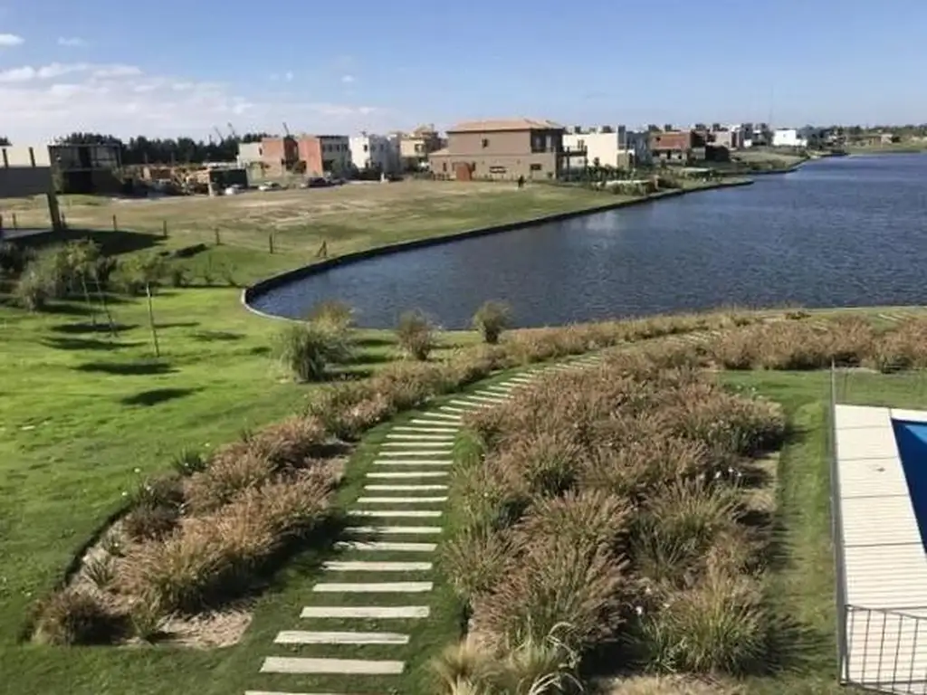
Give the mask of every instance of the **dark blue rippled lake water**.
<path id="1" fill-rule="evenodd" d="M 462 328 L 486 299 L 522 326 L 700 310 L 925 304 L 927 156 L 833 158 L 752 186 L 369 259 L 278 288 L 260 310 L 349 302 Z"/>

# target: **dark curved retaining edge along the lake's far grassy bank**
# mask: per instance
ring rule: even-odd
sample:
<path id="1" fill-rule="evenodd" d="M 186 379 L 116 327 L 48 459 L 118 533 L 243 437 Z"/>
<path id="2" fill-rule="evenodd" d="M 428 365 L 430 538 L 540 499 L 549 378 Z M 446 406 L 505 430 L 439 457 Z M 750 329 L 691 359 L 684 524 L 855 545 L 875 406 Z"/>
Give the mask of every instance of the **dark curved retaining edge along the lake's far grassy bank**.
<path id="1" fill-rule="evenodd" d="M 335 256 L 330 259 L 321 260 L 318 263 L 311 263 L 310 265 L 300 266 L 299 268 L 294 268 L 289 271 L 278 272 L 275 275 L 271 275 L 270 277 L 265 278 L 264 280 L 259 280 L 257 283 L 250 284 L 241 292 L 241 303 L 245 309 L 253 314 L 260 316 L 261 318 L 292 322 L 296 320 L 290 319 L 286 316 L 278 316 L 277 314 L 261 311 L 260 309 L 253 307 L 251 302 L 255 298 L 260 297 L 261 295 L 266 294 L 267 292 L 276 289 L 281 285 L 292 283 L 320 272 L 327 272 L 342 265 L 356 263 L 361 260 L 373 259 L 379 256 L 388 256 L 394 253 L 400 253 L 402 251 L 411 251 L 416 248 L 424 248 L 426 246 L 451 244 L 455 241 L 462 241 L 464 239 L 470 239 L 476 236 L 489 236 L 489 234 L 512 232 L 516 229 L 524 229 L 525 227 L 531 227 L 536 224 L 547 224 L 549 222 L 570 220 L 572 218 L 582 217 L 584 215 L 593 215 L 598 212 L 607 212 L 609 210 L 618 208 L 629 208 L 635 205 L 655 203 L 663 200 L 664 198 L 687 196 L 692 193 L 703 193 L 705 191 L 717 191 L 720 188 L 736 188 L 738 186 L 746 186 L 753 183 L 754 181 L 752 179 L 747 179 L 727 182 L 720 181 L 711 185 L 700 186 L 698 188 L 676 188 L 662 193 L 655 193 L 650 196 L 635 198 L 633 200 L 619 200 L 612 203 L 606 203 L 605 205 L 595 206 L 593 208 L 570 210 L 568 212 L 555 212 L 551 215 L 542 215 L 540 217 L 529 218 L 527 220 L 505 222 L 504 224 L 495 224 L 489 227 L 477 227 L 476 229 L 466 229 L 460 232 L 451 232 L 450 234 L 427 236 L 422 239 L 410 239 L 408 241 L 400 241 L 395 244 L 374 246 L 372 248 L 365 248 L 361 251 L 352 251 L 350 253 L 344 254 L 343 256 Z"/>

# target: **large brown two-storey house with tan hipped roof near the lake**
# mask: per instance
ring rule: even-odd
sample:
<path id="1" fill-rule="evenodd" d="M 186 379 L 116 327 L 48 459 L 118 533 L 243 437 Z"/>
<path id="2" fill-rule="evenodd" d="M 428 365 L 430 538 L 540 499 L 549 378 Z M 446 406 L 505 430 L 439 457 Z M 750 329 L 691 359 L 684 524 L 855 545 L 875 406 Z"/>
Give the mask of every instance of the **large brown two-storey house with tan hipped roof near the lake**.
<path id="1" fill-rule="evenodd" d="M 556 179 L 564 170 L 564 127 L 551 120 L 471 120 L 448 129 L 448 146 L 428 157 L 439 178 Z"/>

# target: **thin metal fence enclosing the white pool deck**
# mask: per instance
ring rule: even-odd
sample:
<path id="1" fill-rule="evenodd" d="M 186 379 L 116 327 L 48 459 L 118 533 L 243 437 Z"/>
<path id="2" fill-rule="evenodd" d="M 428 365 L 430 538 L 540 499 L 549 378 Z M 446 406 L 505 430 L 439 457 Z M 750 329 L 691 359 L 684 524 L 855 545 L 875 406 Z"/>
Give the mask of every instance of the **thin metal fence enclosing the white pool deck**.
<path id="1" fill-rule="evenodd" d="M 832 366 L 830 391 L 828 449 L 839 679 L 844 685 L 881 692 L 927 695 L 927 606 L 883 609 L 847 603 L 836 436 L 837 403 L 927 409 L 927 375 L 920 370 L 869 373 Z"/>

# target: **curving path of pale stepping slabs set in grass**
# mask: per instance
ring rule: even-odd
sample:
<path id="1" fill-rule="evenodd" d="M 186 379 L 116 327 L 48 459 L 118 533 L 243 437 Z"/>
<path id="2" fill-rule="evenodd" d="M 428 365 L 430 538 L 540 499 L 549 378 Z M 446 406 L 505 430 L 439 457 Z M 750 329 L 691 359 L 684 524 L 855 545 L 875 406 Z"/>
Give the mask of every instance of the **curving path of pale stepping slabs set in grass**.
<path id="1" fill-rule="evenodd" d="M 309 605 L 277 634 L 273 656 L 260 665 L 261 685 L 271 689 L 246 695 L 398 688 L 406 669 L 401 655 L 432 617 L 432 559 L 444 531 L 451 449 L 464 413 L 505 402 L 545 371 L 600 360 L 592 355 L 518 373 L 393 426 L 349 508 L 351 525 L 336 544 L 337 560 L 324 562 L 323 580 L 306 597 Z"/>

